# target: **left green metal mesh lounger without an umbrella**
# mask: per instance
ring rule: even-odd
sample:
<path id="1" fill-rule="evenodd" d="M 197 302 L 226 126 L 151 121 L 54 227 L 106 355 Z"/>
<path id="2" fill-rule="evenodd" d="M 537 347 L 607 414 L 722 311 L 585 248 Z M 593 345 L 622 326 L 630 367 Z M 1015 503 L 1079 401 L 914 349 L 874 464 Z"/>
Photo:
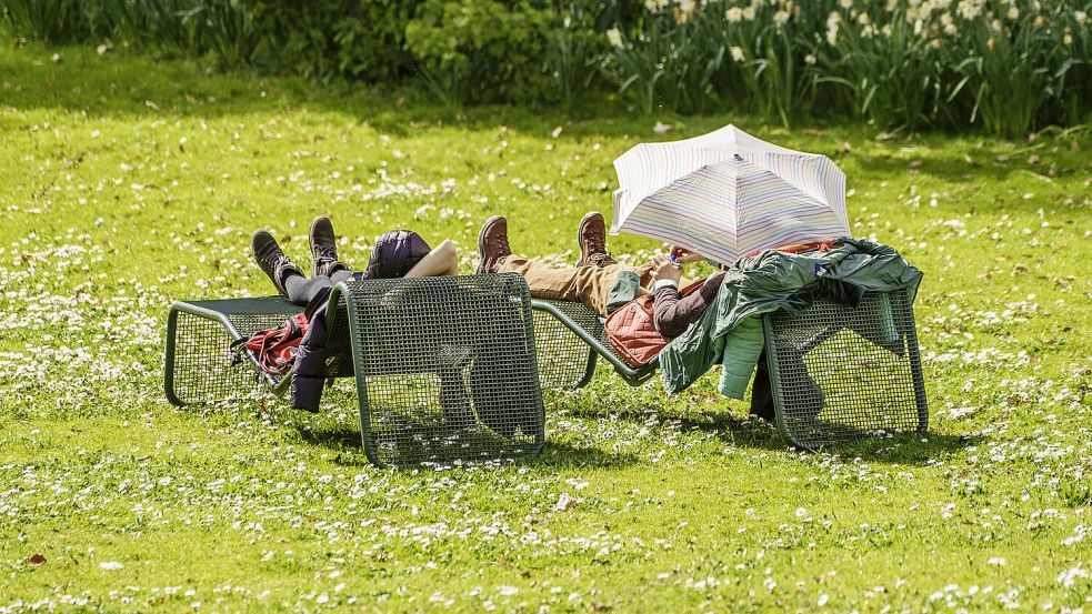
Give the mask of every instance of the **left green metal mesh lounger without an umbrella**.
<path id="1" fill-rule="evenodd" d="M 329 378 L 355 378 L 361 439 L 378 465 L 539 453 L 542 395 L 527 283 L 517 274 L 350 281 L 330 295 Z M 234 360 L 231 341 L 300 308 L 279 298 L 177 302 L 168 315 L 166 392 L 176 405 L 275 393 Z"/>

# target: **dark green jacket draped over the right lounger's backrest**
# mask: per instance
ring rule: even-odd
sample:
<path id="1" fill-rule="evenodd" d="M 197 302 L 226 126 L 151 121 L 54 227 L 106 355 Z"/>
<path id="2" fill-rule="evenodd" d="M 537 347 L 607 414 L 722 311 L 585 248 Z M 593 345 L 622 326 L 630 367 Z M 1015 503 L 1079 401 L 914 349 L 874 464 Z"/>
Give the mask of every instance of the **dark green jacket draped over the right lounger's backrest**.
<path id="1" fill-rule="evenodd" d="M 834 245 L 840 249 L 799 254 L 768 250 L 733 264 L 701 320 L 660 352 L 668 393 L 685 390 L 722 363 L 721 393 L 742 399 L 762 351 L 760 315 L 802 310 L 813 291 L 860 298 L 864 291 L 909 288 L 913 300 L 922 274 L 899 252 L 861 239 Z"/>

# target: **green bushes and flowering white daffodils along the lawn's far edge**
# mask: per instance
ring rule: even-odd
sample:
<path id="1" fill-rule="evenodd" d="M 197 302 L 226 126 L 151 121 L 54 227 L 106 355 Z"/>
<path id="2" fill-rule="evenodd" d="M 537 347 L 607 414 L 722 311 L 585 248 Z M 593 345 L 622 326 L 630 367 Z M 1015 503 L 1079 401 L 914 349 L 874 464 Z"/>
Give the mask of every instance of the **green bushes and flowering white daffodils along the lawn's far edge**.
<path id="1" fill-rule="evenodd" d="M 1092 0 L 8 0 L 50 42 L 421 79 L 449 103 L 617 91 L 640 112 L 1016 137 L 1092 112 Z"/>

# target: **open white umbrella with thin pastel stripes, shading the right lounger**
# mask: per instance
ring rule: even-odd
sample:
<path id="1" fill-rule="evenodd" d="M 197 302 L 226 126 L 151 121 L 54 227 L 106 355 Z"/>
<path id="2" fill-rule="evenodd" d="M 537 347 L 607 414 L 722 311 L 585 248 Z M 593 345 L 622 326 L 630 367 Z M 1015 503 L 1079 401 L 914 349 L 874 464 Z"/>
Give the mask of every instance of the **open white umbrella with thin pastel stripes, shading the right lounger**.
<path id="1" fill-rule="evenodd" d="M 642 143 L 614 160 L 611 234 L 681 245 L 715 262 L 849 236 L 845 174 L 727 125 L 684 141 Z"/>

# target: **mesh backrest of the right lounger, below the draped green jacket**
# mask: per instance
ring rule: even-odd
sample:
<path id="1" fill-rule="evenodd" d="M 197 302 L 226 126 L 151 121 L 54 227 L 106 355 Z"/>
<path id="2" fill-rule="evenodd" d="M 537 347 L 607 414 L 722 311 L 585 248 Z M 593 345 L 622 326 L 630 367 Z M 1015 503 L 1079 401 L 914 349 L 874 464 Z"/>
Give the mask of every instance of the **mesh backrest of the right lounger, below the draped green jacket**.
<path id="1" fill-rule="evenodd" d="M 858 306 L 820 299 L 765 315 L 763 328 L 778 425 L 793 443 L 928 427 L 909 291 L 865 292 Z"/>

